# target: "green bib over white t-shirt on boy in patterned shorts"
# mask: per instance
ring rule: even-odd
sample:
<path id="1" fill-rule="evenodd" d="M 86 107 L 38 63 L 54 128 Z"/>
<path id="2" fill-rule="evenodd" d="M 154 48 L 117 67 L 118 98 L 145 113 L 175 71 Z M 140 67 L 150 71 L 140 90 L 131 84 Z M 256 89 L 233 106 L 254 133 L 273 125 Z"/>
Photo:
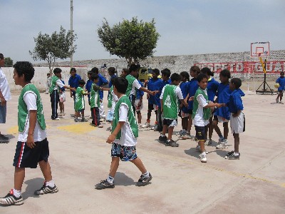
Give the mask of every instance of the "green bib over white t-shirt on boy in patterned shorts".
<path id="1" fill-rule="evenodd" d="M 123 146 L 135 146 L 138 138 L 138 123 L 135 121 L 133 107 L 128 96 L 121 96 L 115 104 L 112 133 L 119 121 L 125 122 L 118 135 L 115 143 Z"/>

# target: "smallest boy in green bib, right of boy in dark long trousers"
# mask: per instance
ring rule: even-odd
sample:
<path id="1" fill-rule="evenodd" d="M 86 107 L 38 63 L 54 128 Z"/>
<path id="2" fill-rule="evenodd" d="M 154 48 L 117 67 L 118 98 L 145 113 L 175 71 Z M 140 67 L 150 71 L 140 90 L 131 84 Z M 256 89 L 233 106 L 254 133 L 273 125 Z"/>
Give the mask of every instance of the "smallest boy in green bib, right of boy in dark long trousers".
<path id="1" fill-rule="evenodd" d="M 87 122 L 88 120 L 84 118 L 84 110 L 85 110 L 85 100 L 84 96 L 88 95 L 86 90 L 84 90 L 85 81 L 83 79 L 78 81 L 78 87 L 76 88 L 76 118 L 74 118 L 74 121 L 76 122 Z M 78 117 L 81 113 L 81 121 L 78 120 Z"/>

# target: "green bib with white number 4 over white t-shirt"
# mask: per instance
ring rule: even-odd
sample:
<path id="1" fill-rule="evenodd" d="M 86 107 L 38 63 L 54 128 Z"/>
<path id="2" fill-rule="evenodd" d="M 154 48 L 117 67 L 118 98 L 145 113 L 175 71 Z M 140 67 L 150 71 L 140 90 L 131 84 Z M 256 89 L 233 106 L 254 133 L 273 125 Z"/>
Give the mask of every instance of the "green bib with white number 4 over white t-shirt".
<path id="1" fill-rule="evenodd" d="M 182 99 L 182 91 L 179 86 L 166 85 L 162 89 L 163 116 L 165 119 L 176 120 L 178 117 L 178 100 Z"/>

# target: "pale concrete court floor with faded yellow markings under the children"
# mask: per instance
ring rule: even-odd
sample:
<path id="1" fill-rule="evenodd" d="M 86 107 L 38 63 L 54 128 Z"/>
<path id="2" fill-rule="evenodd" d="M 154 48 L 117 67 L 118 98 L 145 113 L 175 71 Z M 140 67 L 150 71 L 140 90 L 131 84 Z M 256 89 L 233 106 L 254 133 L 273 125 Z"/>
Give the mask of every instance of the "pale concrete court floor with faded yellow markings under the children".
<path id="1" fill-rule="evenodd" d="M 0 126 L 1 133 L 11 138 L 10 143 L 0 144 L 1 197 L 14 184 L 18 97 L 9 101 L 7 123 Z M 285 213 L 285 106 L 274 103 L 276 95 L 246 92 L 247 125 L 240 136 L 239 161 L 224 159 L 234 148 L 231 134 L 228 149 L 208 146 L 208 162 L 200 163 L 195 141 L 179 140 L 180 147 L 165 147 L 158 143 L 157 132 L 141 129 L 138 156 L 152 173 L 151 184 L 136 187 L 140 171 L 132 163 L 120 162 L 115 188 L 107 190 L 95 190 L 94 185 L 106 178 L 110 168 L 110 145 L 105 143 L 109 124 L 94 128 L 89 123 L 75 123 L 69 116 L 73 103 L 68 96 L 65 118 L 51 121 L 49 96 L 41 93 L 41 97 L 48 126 L 49 161 L 59 192 L 34 196 L 33 191 L 43 184 L 41 170 L 27 169 L 24 205 L 0 206 L 0 213 Z M 106 102 L 105 93 L 105 110 Z M 143 123 L 146 98 L 144 104 Z M 89 111 L 86 114 L 90 115 Z M 214 133 L 213 140 L 217 139 Z"/>

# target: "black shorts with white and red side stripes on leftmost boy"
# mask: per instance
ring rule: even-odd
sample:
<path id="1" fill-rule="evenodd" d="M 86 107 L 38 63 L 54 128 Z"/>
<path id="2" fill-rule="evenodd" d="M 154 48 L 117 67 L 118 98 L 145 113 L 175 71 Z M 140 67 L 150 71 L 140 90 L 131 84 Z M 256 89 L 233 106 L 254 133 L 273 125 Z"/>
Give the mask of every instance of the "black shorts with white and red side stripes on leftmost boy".
<path id="1" fill-rule="evenodd" d="M 29 148 L 26 142 L 17 142 L 13 165 L 19 168 L 36 168 L 38 162 L 48 161 L 48 140 L 35 142 L 34 148 Z"/>

